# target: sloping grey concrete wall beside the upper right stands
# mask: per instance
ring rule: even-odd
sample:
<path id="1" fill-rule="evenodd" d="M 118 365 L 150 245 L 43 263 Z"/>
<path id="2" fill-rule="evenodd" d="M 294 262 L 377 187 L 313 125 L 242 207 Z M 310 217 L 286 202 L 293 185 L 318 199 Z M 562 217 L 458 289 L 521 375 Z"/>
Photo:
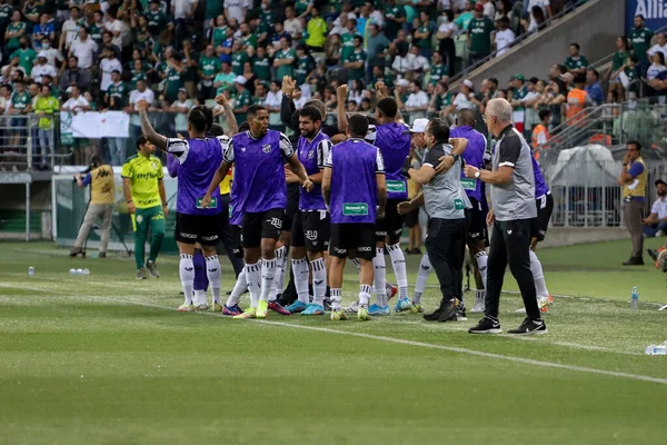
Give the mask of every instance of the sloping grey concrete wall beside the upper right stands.
<path id="1" fill-rule="evenodd" d="M 569 56 L 573 42 L 580 44 L 581 55 L 593 63 L 616 50 L 616 37 L 625 33 L 625 0 L 593 0 L 468 78 L 479 85 L 494 77 L 499 80 L 499 88 L 506 88 L 509 78 L 518 72 L 544 79 L 554 63 L 563 63 Z"/>

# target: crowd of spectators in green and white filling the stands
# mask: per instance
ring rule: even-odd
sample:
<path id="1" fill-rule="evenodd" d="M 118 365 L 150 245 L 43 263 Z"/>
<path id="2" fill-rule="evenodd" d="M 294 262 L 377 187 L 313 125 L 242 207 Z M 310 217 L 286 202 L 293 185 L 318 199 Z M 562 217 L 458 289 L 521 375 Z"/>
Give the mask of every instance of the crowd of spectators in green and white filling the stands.
<path id="1" fill-rule="evenodd" d="M 608 98 L 616 100 L 624 99 L 644 68 L 650 88 L 665 90 L 665 37 L 658 37 L 663 49 L 656 50 L 648 43 L 653 34 L 640 29 L 630 36 L 630 46 L 619 39 L 613 72 L 589 70 L 573 44 L 548 76 L 517 75 L 509 85 L 464 80 L 456 91 L 449 89 L 452 76 L 489 55 L 502 56 L 517 36 L 539 31 L 573 2 L 0 0 L 0 112 L 39 115 L 30 131 L 46 165 L 47 155 L 61 145 L 50 120 L 59 109 L 125 110 L 133 115 L 133 136 L 139 129 L 135 105 L 146 99 L 156 126 L 176 135 L 185 131 L 193 105 L 226 95 L 239 122 L 250 105 L 261 103 L 280 128 L 285 76 L 296 80 L 297 108 L 318 98 L 332 111 L 336 88 L 348 83 L 349 112 L 372 111 L 375 86 L 381 81 L 410 120 L 434 113 L 450 118 L 464 108 L 481 115 L 489 99 L 505 96 L 527 132 L 540 125 L 548 132 L 576 115 L 570 98 L 577 97 L 580 107 L 605 101 L 600 81 L 607 78 Z M 640 50 L 641 36 L 647 46 Z M 156 117 L 158 111 L 167 117 Z M 225 125 L 223 110 L 215 113 Z M 2 135 L 2 145 L 20 145 L 27 131 L 12 131 L 11 142 Z M 131 140 L 90 144 L 74 146 L 74 164 L 101 151 L 120 165 Z"/>

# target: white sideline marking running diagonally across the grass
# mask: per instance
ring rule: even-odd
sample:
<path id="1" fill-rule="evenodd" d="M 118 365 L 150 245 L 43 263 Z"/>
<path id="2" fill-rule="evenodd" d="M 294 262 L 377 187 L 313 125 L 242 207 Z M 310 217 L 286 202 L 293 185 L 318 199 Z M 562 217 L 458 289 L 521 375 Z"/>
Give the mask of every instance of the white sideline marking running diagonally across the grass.
<path id="1" fill-rule="evenodd" d="M 152 308 L 157 308 L 157 309 L 175 312 L 173 307 L 155 305 L 151 303 L 132 301 L 132 300 L 127 300 L 127 299 L 108 298 L 108 297 L 100 297 L 100 296 L 90 296 L 90 297 L 69 296 L 69 297 L 70 298 L 79 298 L 79 299 L 89 300 L 89 301 L 90 300 L 100 300 L 100 301 L 110 301 L 110 303 L 125 303 L 125 304 L 135 305 L 135 306 L 152 307 Z M 208 315 L 208 316 L 219 317 L 219 318 L 227 318 L 222 314 L 217 314 L 217 313 L 211 313 L 211 312 L 202 312 L 202 313 L 197 313 L 197 314 Z M 351 336 L 351 337 L 367 338 L 367 339 L 380 340 L 380 342 L 387 342 L 387 343 L 396 343 L 399 345 L 418 346 L 418 347 L 430 348 L 430 349 L 447 350 L 450 353 L 468 354 L 468 355 L 472 355 L 472 356 L 477 356 L 477 357 L 496 358 L 499 360 L 521 363 L 521 364 L 532 365 L 532 366 L 567 369 L 567 370 L 579 372 L 579 373 L 588 373 L 588 374 L 607 375 L 607 376 L 611 376 L 611 377 L 628 378 L 628 379 L 633 379 L 633 380 L 650 382 L 650 383 L 667 385 L 667 378 L 650 377 L 650 376 L 645 376 L 645 375 L 639 375 L 639 374 L 619 373 L 619 372 L 615 372 L 615 370 L 589 368 L 589 367 L 585 367 L 585 366 L 564 365 L 564 364 L 554 363 L 554 362 L 534 360 L 530 358 L 512 357 L 512 356 L 508 356 L 508 355 L 485 353 L 485 352 L 475 350 L 475 349 L 466 349 L 466 348 L 454 347 L 454 346 L 435 345 L 431 343 L 422 343 L 422 342 L 407 340 L 407 339 L 402 339 L 402 338 L 385 337 L 381 335 L 352 333 L 352 332 L 338 330 L 338 329 L 331 329 L 331 328 L 326 328 L 326 327 L 295 325 L 291 323 L 270 322 L 270 320 L 260 320 L 260 319 L 250 319 L 250 320 L 255 322 L 255 323 L 261 323 L 263 325 L 289 327 L 289 328 L 293 328 L 293 329 L 315 330 L 315 332 L 327 333 L 327 334 L 347 335 L 347 336 Z M 242 323 L 242 322 L 239 322 L 239 323 Z"/>

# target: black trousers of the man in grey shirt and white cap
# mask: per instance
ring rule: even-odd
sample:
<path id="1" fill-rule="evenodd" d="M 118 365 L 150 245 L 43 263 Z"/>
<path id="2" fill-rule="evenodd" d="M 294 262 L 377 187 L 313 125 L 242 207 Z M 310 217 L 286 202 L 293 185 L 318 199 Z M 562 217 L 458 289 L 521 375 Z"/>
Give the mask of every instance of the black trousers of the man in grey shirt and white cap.
<path id="1" fill-rule="evenodd" d="M 466 218 L 431 218 L 426 235 L 426 251 L 440 283 L 442 298 L 462 300 Z"/>

